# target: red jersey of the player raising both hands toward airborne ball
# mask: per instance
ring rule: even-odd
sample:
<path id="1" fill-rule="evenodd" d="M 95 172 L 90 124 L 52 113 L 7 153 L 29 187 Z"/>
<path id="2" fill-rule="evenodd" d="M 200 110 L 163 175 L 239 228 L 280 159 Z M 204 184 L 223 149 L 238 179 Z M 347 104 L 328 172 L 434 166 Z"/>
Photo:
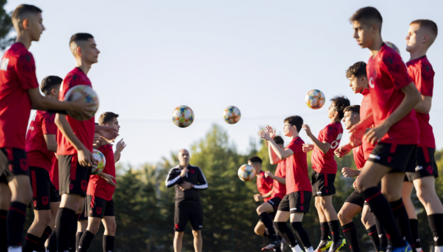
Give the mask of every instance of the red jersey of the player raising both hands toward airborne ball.
<path id="1" fill-rule="evenodd" d="M 306 153 L 302 151 L 305 142 L 297 136 L 292 139 L 286 149 L 291 149 L 294 155 L 286 158 L 286 194 L 294 191 L 311 191 L 311 182 L 308 176 L 308 161 Z"/>

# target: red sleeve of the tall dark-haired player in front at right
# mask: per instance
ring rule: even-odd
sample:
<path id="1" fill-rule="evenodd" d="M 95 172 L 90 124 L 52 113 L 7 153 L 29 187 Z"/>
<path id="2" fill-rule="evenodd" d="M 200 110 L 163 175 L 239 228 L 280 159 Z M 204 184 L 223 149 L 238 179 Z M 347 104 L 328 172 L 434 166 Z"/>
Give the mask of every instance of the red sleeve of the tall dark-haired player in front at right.
<path id="1" fill-rule="evenodd" d="M 408 74 L 408 68 L 397 53 L 386 53 L 382 58 L 384 71 L 391 79 L 394 89 L 402 89 L 413 80 Z"/>

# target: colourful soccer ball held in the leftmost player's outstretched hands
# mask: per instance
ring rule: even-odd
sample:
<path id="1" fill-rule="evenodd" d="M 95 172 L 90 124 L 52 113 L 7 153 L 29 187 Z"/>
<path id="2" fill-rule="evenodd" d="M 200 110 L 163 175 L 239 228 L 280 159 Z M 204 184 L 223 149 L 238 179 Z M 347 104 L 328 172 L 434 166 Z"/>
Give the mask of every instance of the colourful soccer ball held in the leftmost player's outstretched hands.
<path id="1" fill-rule="evenodd" d="M 71 89 L 66 92 L 66 95 L 64 95 L 65 101 L 76 101 L 79 98 L 82 98 L 81 101 L 85 103 L 95 103 L 95 106 L 91 107 L 91 109 L 94 110 L 94 112 L 91 112 L 88 117 L 85 117 L 77 112 L 74 112 L 72 110 L 68 110 L 67 114 L 78 121 L 86 121 L 94 117 L 95 112 L 98 110 L 98 96 L 95 93 L 95 91 L 90 87 L 86 85 L 78 85 L 75 87 L 72 87 Z"/>

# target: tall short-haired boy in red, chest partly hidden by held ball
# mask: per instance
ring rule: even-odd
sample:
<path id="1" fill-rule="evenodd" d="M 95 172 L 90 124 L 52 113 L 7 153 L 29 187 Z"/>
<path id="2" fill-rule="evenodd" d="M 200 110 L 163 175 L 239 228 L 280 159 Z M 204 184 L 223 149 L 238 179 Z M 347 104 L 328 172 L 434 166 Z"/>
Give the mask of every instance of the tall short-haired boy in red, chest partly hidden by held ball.
<path id="1" fill-rule="evenodd" d="M 89 33 L 72 35 L 69 47 L 77 63 L 63 80 L 60 100 L 64 100 L 64 96 L 72 87 L 92 87 L 87 74 L 91 65 L 98 62 L 100 53 L 94 37 Z M 116 133 L 110 126 L 95 125 L 94 117 L 86 121 L 77 121 L 58 113 L 55 123 L 58 126 L 57 155 L 62 195 L 56 221 L 57 250 L 65 252 L 70 247 L 71 233 L 77 230 L 77 216 L 82 213 L 85 204 L 91 166 L 96 163 L 92 155 L 94 133 L 104 135 L 107 139 L 113 138 Z"/>

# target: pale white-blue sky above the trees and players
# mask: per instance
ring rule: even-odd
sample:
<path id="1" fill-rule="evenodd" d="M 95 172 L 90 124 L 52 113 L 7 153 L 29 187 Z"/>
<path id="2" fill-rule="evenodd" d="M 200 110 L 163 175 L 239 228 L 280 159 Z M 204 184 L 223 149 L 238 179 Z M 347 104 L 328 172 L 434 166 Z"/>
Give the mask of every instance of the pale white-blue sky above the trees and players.
<path id="1" fill-rule="evenodd" d="M 6 9 L 23 3 L 9 0 Z M 345 71 L 367 61 L 369 51 L 352 38 L 348 18 L 360 7 L 377 7 L 382 37 L 396 44 L 405 61 L 405 36 L 415 19 L 443 27 L 441 1 L 296 1 L 296 0 L 33 0 L 43 10 L 43 32 L 30 51 L 37 78 L 62 78 L 75 66 L 68 41 L 76 32 L 95 36 L 101 51 L 88 76 L 100 98 L 98 115 L 120 114 L 120 135 L 127 143 L 122 161 L 157 162 L 171 151 L 189 148 L 213 123 L 227 130 L 246 153 L 259 126 L 282 133 L 283 119 L 300 115 L 314 134 L 329 123 L 327 107 L 304 103 L 309 90 L 326 98 L 347 95 Z M 428 51 L 436 72 L 431 125 L 437 148 L 443 147 L 443 38 Z M 440 55 L 440 57 L 439 57 Z M 188 128 L 172 123 L 172 110 L 188 105 L 195 121 Z M 226 124 L 221 114 L 237 106 L 242 119 Z M 33 112 L 32 112 L 33 114 Z M 306 133 L 301 137 L 308 141 Z M 120 137 L 119 137 L 120 139 Z M 117 139 L 117 140 L 119 140 Z M 287 139 L 286 139 L 287 140 Z M 345 134 L 342 143 L 348 142 Z M 239 164 L 240 165 L 240 164 Z"/>

